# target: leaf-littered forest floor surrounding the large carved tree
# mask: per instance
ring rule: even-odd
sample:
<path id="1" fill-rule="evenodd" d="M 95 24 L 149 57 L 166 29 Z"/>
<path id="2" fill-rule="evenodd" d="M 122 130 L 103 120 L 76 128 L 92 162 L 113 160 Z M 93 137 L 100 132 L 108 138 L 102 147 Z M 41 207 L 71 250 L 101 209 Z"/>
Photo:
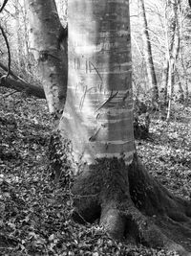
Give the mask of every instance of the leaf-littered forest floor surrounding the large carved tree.
<path id="1" fill-rule="evenodd" d="M 111 240 L 98 223 L 71 219 L 70 190 L 53 184 L 46 102 L 0 88 L 0 255 L 178 255 Z M 191 107 L 172 121 L 153 113 L 150 135 L 136 142 L 147 170 L 173 194 L 191 198 Z"/>

